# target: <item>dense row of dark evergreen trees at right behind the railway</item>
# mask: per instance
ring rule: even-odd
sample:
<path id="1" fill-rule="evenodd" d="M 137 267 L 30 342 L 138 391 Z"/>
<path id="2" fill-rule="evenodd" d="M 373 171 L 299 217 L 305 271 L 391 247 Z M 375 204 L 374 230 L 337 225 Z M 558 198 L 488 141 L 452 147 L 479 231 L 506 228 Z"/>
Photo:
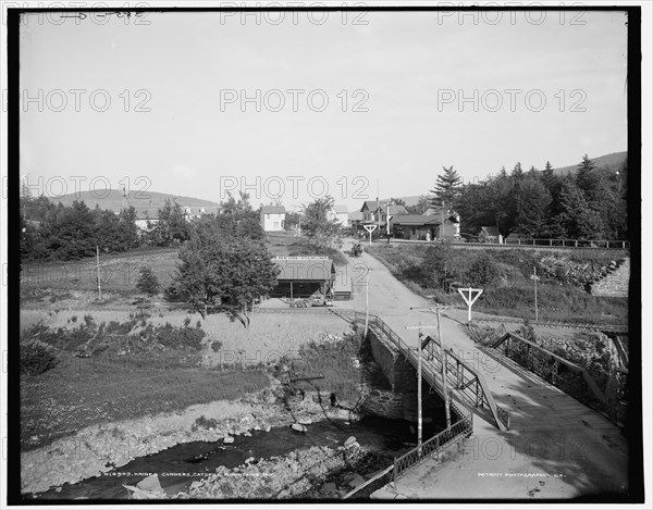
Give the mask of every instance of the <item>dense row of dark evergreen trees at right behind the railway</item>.
<path id="1" fill-rule="evenodd" d="M 517 163 L 484 181 L 463 185 L 453 166 L 431 192 L 432 206 L 455 209 L 464 231 L 496 226 L 503 236 L 574 239 L 627 239 L 628 163 L 597 167 L 586 154 L 577 172 L 557 175 L 550 162 L 543 171 L 523 172 Z"/>

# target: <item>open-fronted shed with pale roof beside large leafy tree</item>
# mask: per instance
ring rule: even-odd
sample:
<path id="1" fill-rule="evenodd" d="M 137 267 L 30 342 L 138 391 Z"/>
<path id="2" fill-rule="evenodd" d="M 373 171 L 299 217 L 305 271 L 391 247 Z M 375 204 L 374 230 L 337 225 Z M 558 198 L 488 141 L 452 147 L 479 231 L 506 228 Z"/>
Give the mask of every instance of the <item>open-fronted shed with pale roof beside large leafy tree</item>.
<path id="1" fill-rule="evenodd" d="M 333 289 L 335 266 L 328 257 L 275 257 L 272 262 L 280 269 L 272 296 L 289 299 L 325 297 Z"/>

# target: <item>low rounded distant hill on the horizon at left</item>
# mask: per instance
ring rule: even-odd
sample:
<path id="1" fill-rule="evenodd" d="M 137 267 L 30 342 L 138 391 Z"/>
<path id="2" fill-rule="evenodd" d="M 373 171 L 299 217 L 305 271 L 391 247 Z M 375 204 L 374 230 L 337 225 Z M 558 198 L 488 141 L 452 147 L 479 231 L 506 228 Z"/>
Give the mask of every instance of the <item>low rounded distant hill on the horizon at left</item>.
<path id="1" fill-rule="evenodd" d="M 215 208 L 220 206 L 218 202 L 212 202 L 210 200 L 201 200 L 193 197 L 178 197 L 149 190 L 131 190 L 124 199 L 124 203 L 126 207 L 133 206 L 137 210 L 156 210 L 162 208 L 167 199 L 175 199 L 180 206 L 189 208 Z M 111 211 L 120 211 L 123 208 L 123 194 L 118 189 L 111 189 L 110 191 L 104 189 L 98 189 L 97 191 L 81 191 L 78 194 L 69 194 L 62 197 L 48 197 L 48 200 L 54 204 L 61 202 L 64 206 L 72 206 L 75 200 L 84 200 L 89 209 L 95 209 L 96 204 L 100 206 L 100 209 L 109 209 Z"/>

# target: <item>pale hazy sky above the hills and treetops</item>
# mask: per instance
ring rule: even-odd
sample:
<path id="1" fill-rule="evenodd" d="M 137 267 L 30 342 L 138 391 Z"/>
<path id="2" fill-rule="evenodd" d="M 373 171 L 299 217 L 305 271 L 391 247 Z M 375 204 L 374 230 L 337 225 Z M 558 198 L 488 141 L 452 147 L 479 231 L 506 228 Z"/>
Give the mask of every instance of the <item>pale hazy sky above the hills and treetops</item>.
<path id="1" fill-rule="evenodd" d="M 625 14 L 445 14 L 30 15 L 21 174 L 214 201 L 244 181 L 255 206 L 329 191 L 353 209 L 377 179 L 420 195 L 443 165 L 467 182 L 626 150 Z"/>

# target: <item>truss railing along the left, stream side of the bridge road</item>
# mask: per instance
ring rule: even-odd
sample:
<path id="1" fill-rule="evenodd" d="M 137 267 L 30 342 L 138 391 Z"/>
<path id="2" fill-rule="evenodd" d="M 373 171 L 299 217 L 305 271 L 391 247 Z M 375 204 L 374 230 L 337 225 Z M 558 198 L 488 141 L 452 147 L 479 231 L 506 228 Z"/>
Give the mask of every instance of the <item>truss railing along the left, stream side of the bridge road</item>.
<path id="1" fill-rule="evenodd" d="M 354 313 L 354 323 L 364 324 L 365 314 L 360 312 Z M 390 340 L 396 350 L 398 350 L 412 366 L 417 368 L 418 359 L 417 352 L 414 348 L 410 348 L 392 328 L 383 322 L 379 316 L 369 315 L 369 326 L 373 327 L 384 338 Z M 424 356 L 422 357 L 422 376 L 428 381 L 429 385 L 438 391 L 438 394 L 444 399 L 444 389 L 442 385 L 442 356 L 439 350 L 433 349 L 433 340 L 431 337 L 427 337 L 424 340 L 427 348 Z M 430 347 L 429 347 L 430 344 Z M 479 374 L 472 366 L 466 363 L 464 360 L 458 358 L 453 350 L 446 350 L 444 352 L 445 358 L 445 377 L 447 386 L 455 390 L 455 397 L 457 397 L 461 403 L 467 405 L 470 408 L 485 409 L 490 412 L 496 426 L 501 431 L 507 431 L 510 427 L 510 418 L 507 411 L 502 409 L 494 402 L 492 393 L 488 386 L 488 383 L 481 374 Z M 449 393 L 454 396 L 453 393 Z M 449 399 L 451 400 L 451 399 Z"/>

